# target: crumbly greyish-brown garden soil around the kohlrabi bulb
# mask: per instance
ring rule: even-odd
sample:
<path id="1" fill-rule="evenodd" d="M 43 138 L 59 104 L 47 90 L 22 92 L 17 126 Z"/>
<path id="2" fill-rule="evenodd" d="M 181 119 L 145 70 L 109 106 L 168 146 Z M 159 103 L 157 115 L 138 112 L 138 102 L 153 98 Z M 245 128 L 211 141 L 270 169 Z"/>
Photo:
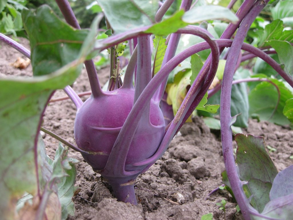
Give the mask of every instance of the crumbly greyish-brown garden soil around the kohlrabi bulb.
<path id="1" fill-rule="evenodd" d="M 27 40 L 21 39 L 21 43 L 29 48 Z M 25 70 L 9 65 L 19 56 L 24 58 L 23 55 L 3 43 L 0 46 L 0 77 L 32 75 L 31 65 Z M 104 84 L 108 70 L 102 69 L 98 71 L 98 75 L 101 84 Z M 85 71 L 76 80 L 73 89 L 76 92 L 90 90 Z M 56 91 L 53 98 L 60 96 L 65 96 L 62 90 Z M 83 97 L 84 100 L 86 98 Z M 75 143 L 75 114 L 76 108 L 70 100 L 50 103 L 45 111 L 43 126 Z M 293 155 L 293 131 L 289 127 L 250 120 L 243 133 L 263 136 L 267 145 L 277 149 L 276 152 L 270 152 L 270 155 L 278 170 L 292 164 L 289 156 Z M 44 135 L 44 140 L 48 155 L 53 157 L 58 141 L 49 135 Z M 224 219 L 224 212 L 216 205 L 222 199 L 227 201 L 226 220 L 243 219 L 241 214 L 236 213 L 236 203 L 226 191 L 218 190 L 208 196 L 209 192 L 222 184 L 220 173 L 225 167 L 219 131 L 210 131 L 199 117 L 195 117 L 193 123 L 185 124 L 163 157 L 147 172 L 139 175 L 135 184 L 139 202 L 137 206 L 117 202 L 108 183 L 93 172 L 79 152 L 70 150 L 69 156 L 81 161 L 77 164 L 76 177 L 76 185 L 81 190 L 73 198 L 75 216 L 69 216 L 68 220 L 188 220 L 201 219 L 208 212 L 212 212 L 213 219 L 217 220 Z"/>

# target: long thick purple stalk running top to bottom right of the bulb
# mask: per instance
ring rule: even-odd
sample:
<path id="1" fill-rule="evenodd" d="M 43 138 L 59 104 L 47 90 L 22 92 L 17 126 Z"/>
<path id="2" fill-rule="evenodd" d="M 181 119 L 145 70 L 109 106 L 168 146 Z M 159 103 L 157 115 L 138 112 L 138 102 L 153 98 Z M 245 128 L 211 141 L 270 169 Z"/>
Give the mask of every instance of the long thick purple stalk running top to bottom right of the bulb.
<path id="1" fill-rule="evenodd" d="M 240 181 L 237 174 L 232 148 L 231 123 L 233 121 L 233 118 L 231 117 L 230 111 L 231 88 L 237 57 L 239 56 L 243 40 L 246 37 L 247 31 L 251 26 L 251 23 L 254 21 L 256 16 L 258 16 L 264 6 L 265 3 L 262 0 L 257 1 L 248 12 L 246 17 L 243 19 L 236 33 L 224 69 L 220 101 L 221 137 L 225 168 L 235 199 L 241 209 L 244 219 L 246 220 L 251 219 L 249 213 L 249 202 L 243 192 L 243 182 Z"/>

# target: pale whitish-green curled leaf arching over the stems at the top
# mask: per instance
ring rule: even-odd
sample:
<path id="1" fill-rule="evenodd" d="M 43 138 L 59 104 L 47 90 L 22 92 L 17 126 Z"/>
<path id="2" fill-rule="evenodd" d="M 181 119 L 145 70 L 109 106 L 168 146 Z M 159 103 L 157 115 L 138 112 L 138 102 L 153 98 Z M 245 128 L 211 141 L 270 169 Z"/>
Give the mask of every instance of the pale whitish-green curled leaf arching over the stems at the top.
<path id="1" fill-rule="evenodd" d="M 189 24 L 199 23 L 206 20 L 225 20 L 236 22 L 237 16 L 229 9 L 218 5 L 205 5 L 193 7 L 185 12 L 182 20 Z"/>

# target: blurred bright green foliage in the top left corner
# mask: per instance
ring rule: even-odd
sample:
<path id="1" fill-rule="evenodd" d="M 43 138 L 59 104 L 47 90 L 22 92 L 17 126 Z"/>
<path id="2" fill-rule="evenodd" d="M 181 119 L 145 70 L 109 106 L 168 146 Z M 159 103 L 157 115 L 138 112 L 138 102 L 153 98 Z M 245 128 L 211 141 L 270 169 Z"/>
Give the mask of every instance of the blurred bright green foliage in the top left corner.
<path id="1" fill-rule="evenodd" d="M 25 9 L 26 0 L 1 0 L 0 1 L 0 32 L 17 35 L 23 30 L 21 11 Z"/>

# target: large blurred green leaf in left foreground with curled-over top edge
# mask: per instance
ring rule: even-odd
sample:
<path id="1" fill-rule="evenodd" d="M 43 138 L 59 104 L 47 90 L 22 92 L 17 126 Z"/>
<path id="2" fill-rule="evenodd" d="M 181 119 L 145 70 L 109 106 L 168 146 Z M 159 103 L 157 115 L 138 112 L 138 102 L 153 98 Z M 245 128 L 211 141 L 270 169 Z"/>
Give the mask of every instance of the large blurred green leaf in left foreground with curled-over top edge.
<path id="1" fill-rule="evenodd" d="M 52 15 L 51 11 L 47 12 Z M 39 19 L 49 18 L 46 16 Z M 56 25 L 54 28 L 59 30 L 60 27 L 54 25 Z M 93 23 L 93 26 L 96 25 L 97 20 Z M 38 34 L 55 35 L 52 27 L 47 26 L 47 28 L 51 31 Z M 33 78 L 0 79 L 0 191 L 2 193 L 0 212 L 4 219 L 14 219 L 16 201 L 24 192 L 35 195 L 38 186 L 33 150 L 42 112 L 55 89 L 62 89 L 74 82 L 95 40 L 96 28 L 92 29 L 85 39 L 80 52 L 72 51 L 76 58 L 68 64 L 63 63 L 64 66 L 50 74 Z M 55 41 L 51 42 L 54 43 Z M 38 42 L 35 44 L 37 45 Z M 50 42 L 47 44 L 49 47 Z M 49 52 L 47 48 L 43 52 L 38 51 L 44 54 Z M 39 69 L 47 67 L 47 64 L 44 66 L 41 64 L 42 62 L 33 65 L 38 65 Z M 59 63 L 58 66 L 60 67 L 61 64 Z"/>

